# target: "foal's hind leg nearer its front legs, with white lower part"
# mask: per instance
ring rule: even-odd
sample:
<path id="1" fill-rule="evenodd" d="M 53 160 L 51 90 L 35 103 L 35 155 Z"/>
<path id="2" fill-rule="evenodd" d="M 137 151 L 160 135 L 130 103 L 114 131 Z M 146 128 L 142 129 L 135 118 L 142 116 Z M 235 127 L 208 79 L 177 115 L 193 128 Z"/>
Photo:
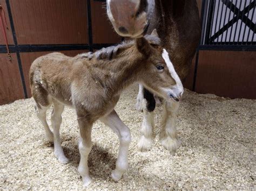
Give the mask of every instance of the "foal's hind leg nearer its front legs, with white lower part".
<path id="1" fill-rule="evenodd" d="M 60 124 L 62 123 L 62 112 L 64 110 L 64 105 L 53 101 L 53 110 L 51 115 L 51 124 L 53 128 L 54 135 L 54 154 L 57 159 L 62 163 L 66 164 L 69 162 L 69 159 L 65 157 L 63 148 L 60 143 L 59 129 Z"/>

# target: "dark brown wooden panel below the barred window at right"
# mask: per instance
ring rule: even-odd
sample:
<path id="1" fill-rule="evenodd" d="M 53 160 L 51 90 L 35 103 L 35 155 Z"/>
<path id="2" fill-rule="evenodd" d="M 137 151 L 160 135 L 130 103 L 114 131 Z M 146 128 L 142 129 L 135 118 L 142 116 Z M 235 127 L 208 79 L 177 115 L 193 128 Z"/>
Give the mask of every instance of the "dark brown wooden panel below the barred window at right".
<path id="1" fill-rule="evenodd" d="M 255 52 L 200 51 L 196 91 L 256 98 Z"/>

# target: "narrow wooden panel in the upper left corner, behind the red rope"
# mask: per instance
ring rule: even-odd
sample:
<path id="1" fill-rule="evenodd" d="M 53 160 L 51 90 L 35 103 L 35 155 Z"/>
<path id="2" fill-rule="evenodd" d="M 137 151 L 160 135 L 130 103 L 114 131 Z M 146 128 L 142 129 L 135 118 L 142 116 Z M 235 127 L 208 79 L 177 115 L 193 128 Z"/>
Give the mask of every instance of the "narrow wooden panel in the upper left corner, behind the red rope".
<path id="1" fill-rule="evenodd" d="M 10 25 L 10 20 L 9 20 L 9 16 L 8 16 L 8 10 L 6 8 L 6 3 L 5 3 L 5 0 L 0 0 L 0 5 L 3 6 L 3 10 L 5 12 L 5 17 L 6 17 L 6 22 L 7 22 L 7 25 L 8 25 L 8 30 L 6 29 L 6 36 L 7 36 L 7 39 L 8 39 L 8 43 L 9 44 L 14 44 L 14 40 L 12 39 L 12 32 L 11 32 L 11 25 Z M 5 45 L 5 40 L 4 40 L 4 34 L 3 34 L 3 31 L 2 31 L 2 22 L 1 22 L 1 19 L 0 19 L 0 45 Z"/>

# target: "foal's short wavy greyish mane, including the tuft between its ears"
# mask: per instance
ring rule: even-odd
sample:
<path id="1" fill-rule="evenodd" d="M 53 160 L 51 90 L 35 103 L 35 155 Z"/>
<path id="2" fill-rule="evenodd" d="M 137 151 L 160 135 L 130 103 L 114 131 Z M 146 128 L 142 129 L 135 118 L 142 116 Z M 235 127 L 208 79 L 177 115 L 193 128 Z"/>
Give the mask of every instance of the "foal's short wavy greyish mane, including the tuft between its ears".
<path id="1" fill-rule="evenodd" d="M 151 45 L 160 45 L 160 38 L 153 35 L 146 35 L 144 38 L 149 42 Z M 97 58 L 97 60 L 110 60 L 113 58 L 116 58 L 118 55 L 119 49 L 127 49 L 136 44 L 136 40 L 127 40 L 123 41 L 123 43 L 120 43 L 118 45 L 109 46 L 106 48 L 99 49 L 95 53 L 87 52 L 78 54 L 76 57 L 78 59 L 87 58 L 92 59 L 93 57 Z"/>

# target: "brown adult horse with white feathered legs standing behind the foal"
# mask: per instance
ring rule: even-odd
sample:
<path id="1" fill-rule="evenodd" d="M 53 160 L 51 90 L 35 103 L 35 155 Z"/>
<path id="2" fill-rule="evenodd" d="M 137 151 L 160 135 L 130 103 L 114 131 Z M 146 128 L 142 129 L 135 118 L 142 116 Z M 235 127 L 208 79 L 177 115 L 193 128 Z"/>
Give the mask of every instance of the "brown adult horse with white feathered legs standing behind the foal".
<path id="1" fill-rule="evenodd" d="M 120 36 L 138 38 L 157 29 L 181 81 L 191 66 L 200 37 L 200 19 L 196 0 L 107 0 L 107 16 Z M 109 49 L 107 50 L 108 53 Z M 161 144 L 171 153 L 179 145 L 175 118 L 180 95 L 173 102 L 164 101 Z M 149 90 L 140 86 L 137 109 L 144 111 L 139 150 L 150 149 L 153 140 L 153 110 L 156 100 Z"/>

